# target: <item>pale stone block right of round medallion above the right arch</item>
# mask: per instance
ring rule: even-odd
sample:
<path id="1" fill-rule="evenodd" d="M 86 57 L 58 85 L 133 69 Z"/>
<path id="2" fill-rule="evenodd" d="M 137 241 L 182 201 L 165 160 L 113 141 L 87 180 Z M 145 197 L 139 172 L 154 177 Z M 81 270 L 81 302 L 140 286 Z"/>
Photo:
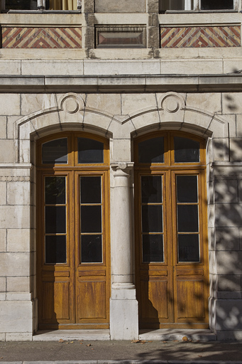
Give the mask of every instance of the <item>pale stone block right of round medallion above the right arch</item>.
<path id="1" fill-rule="evenodd" d="M 216 93 L 187 93 L 187 107 L 196 107 L 205 112 L 221 113 L 221 94 Z"/>

